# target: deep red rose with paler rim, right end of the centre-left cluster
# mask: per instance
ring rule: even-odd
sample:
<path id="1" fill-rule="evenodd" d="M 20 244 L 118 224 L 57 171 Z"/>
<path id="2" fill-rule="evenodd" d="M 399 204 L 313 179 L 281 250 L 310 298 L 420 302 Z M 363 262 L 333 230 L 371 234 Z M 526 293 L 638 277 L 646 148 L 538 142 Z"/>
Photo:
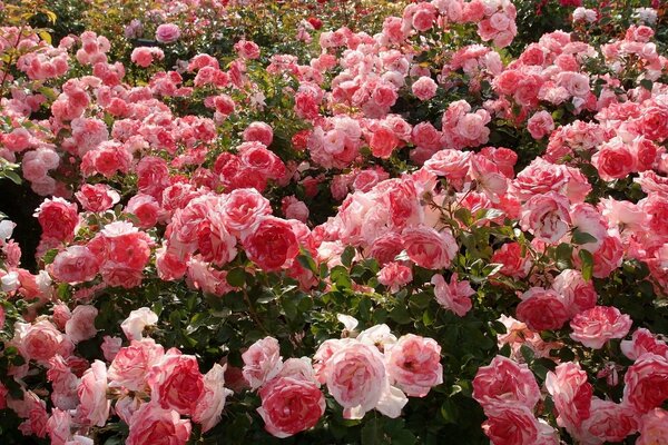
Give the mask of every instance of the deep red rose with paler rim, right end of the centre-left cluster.
<path id="1" fill-rule="evenodd" d="M 246 233 L 242 245 L 248 259 L 266 271 L 286 267 L 299 253 L 292 226 L 273 216 L 263 216 L 255 229 Z"/>

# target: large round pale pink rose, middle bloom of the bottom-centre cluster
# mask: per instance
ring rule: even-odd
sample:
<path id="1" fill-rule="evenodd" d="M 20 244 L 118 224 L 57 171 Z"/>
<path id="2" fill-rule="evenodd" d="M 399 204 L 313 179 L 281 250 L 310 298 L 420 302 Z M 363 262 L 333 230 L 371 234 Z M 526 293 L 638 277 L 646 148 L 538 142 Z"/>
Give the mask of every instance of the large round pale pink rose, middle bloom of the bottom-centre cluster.
<path id="1" fill-rule="evenodd" d="M 338 348 L 326 363 L 327 389 L 344 408 L 361 415 L 379 404 L 387 385 L 383 356 L 377 348 L 350 343 Z"/>

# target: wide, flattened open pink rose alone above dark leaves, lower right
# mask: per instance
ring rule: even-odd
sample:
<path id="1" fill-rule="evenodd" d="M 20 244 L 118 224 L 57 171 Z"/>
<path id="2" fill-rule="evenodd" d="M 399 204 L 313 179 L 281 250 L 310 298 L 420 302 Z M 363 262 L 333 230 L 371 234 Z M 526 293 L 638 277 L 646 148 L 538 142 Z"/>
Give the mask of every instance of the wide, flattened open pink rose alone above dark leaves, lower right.
<path id="1" fill-rule="evenodd" d="M 631 318 L 616 307 L 596 306 L 573 317 L 570 337 L 587 347 L 600 349 L 611 338 L 623 338 L 631 324 Z"/>

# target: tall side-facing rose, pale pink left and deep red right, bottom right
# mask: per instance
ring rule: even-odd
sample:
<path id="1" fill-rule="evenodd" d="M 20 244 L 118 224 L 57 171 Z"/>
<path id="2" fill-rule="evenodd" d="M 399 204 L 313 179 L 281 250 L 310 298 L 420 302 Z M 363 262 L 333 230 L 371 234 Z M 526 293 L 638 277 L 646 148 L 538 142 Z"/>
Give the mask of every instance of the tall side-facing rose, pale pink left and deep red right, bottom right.
<path id="1" fill-rule="evenodd" d="M 587 382 L 587 373 L 577 363 L 562 363 L 548 373 L 546 388 L 557 408 L 557 424 L 570 433 L 578 431 L 582 422 L 591 415 L 593 389 Z"/>

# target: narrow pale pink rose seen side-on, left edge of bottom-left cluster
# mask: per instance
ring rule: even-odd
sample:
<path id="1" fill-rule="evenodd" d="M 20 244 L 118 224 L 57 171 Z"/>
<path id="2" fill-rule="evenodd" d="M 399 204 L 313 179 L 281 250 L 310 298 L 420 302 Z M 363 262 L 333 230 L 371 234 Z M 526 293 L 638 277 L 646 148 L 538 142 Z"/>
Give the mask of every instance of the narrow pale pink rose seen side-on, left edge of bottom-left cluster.
<path id="1" fill-rule="evenodd" d="M 90 425 L 105 426 L 111 402 L 107 399 L 107 365 L 95 360 L 84 373 L 79 388 L 79 414 Z"/>

